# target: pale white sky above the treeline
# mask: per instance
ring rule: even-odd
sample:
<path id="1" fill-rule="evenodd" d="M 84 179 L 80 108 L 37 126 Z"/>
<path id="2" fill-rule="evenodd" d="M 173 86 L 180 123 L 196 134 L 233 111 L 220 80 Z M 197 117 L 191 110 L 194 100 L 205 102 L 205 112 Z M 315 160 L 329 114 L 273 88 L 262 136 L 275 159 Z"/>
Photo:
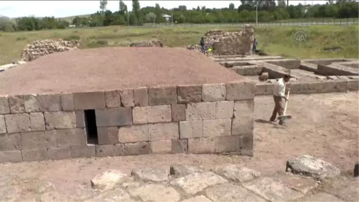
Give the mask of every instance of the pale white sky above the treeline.
<path id="1" fill-rule="evenodd" d="M 132 1 L 123 1 L 129 10 L 132 9 Z M 241 5 L 241 1 L 139 1 L 141 7 L 155 6 L 158 3 L 161 7 L 171 9 L 179 5 L 185 5 L 187 9 L 206 6 L 206 8 L 223 8 L 233 3 L 235 8 Z M 289 0 L 289 4 L 298 5 L 304 1 Z M 326 1 L 306 1 L 307 4 L 325 4 Z M 107 9 L 115 12 L 118 10 L 119 1 L 109 0 Z M 99 10 L 99 1 L 11 1 L 0 0 L 0 15 L 15 18 L 24 16 L 54 16 L 56 18 L 69 17 L 74 15 L 92 14 Z"/>

